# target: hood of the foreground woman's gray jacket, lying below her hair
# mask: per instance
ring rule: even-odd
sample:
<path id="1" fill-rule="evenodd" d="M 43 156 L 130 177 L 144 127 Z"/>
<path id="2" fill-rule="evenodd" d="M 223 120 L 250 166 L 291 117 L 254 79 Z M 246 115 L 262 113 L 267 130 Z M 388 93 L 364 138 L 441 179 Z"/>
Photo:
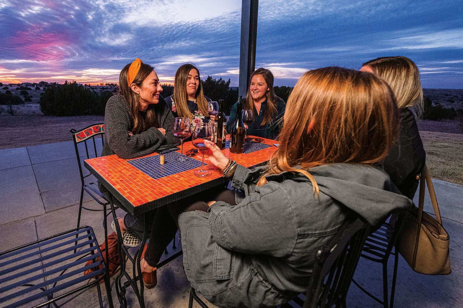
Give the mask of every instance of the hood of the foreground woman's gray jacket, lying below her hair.
<path id="1" fill-rule="evenodd" d="M 413 201 L 402 195 L 388 175 L 378 167 L 332 163 L 314 167 L 309 172 L 315 178 L 320 192 L 356 212 L 371 225 L 380 223 L 394 211 L 413 206 Z M 299 173 L 282 172 L 266 176 L 268 181 L 276 180 L 277 177 L 310 183 L 306 176 Z"/>

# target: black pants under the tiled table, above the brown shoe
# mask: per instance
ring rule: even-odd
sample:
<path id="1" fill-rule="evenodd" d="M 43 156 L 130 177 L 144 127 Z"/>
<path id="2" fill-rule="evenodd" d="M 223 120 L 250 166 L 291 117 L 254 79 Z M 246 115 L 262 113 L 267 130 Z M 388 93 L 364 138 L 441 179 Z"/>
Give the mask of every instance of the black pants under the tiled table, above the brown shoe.
<path id="1" fill-rule="evenodd" d="M 235 191 L 226 188 L 213 188 L 156 210 L 151 225 L 150 242 L 148 242 L 144 255 L 149 266 L 155 267 L 157 265 L 164 249 L 175 237 L 178 230 L 178 216 L 188 211 L 207 212 L 209 209 L 207 201 L 224 201 L 230 205 L 236 205 Z"/>

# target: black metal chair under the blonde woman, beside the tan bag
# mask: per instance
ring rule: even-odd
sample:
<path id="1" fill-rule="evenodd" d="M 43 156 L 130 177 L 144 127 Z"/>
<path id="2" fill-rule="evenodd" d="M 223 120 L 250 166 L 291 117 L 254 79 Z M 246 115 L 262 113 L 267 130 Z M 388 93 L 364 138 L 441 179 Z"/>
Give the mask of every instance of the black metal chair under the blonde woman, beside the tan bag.
<path id="1" fill-rule="evenodd" d="M 395 241 L 400 233 L 405 213 L 394 214 L 390 217 L 389 222 L 385 222 L 375 232 L 371 233 L 363 247 L 361 256 L 367 260 L 378 262 L 382 264 L 382 300 L 365 290 L 360 284 L 352 279 L 352 282 L 362 290 L 365 294 L 373 298 L 376 302 L 383 305 L 384 308 L 392 308 L 394 305 L 395 283 L 397 280 L 397 266 L 399 263 L 399 256 L 397 252 L 392 252 Z M 394 255 L 394 269 L 392 274 L 391 297 L 388 300 L 388 259 L 389 256 Z M 390 304 L 389 304 L 390 303 Z"/>

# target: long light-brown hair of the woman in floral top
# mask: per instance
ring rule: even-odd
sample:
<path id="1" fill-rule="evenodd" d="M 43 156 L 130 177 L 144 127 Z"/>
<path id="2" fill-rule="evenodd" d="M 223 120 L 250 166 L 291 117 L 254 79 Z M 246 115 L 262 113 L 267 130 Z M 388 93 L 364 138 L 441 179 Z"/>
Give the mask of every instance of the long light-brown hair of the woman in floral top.
<path id="1" fill-rule="evenodd" d="M 200 76 L 200 70 L 197 69 L 193 64 L 183 64 L 178 68 L 177 72 L 175 72 L 174 94 L 172 95 L 178 115 L 190 119 L 193 117 L 193 114 L 191 113 L 190 109 L 188 109 L 187 80 L 188 73 L 192 69 L 195 69 L 198 72 L 198 76 Z M 204 97 L 201 79 L 195 96 L 196 103 L 198 104 L 198 110 L 200 110 L 204 116 L 209 117 L 209 114 L 207 113 L 207 101 Z"/>

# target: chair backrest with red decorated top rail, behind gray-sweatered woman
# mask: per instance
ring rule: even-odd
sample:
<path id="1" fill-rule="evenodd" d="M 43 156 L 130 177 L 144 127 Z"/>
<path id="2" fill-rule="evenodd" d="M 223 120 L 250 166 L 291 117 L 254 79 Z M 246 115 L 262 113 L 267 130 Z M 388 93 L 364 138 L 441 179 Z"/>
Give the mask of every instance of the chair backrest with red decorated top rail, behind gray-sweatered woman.
<path id="1" fill-rule="evenodd" d="M 84 127 L 80 130 L 75 130 L 74 128 L 71 128 L 69 131 L 72 133 L 72 136 L 73 136 L 74 146 L 75 146 L 75 155 L 77 156 L 77 162 L 79 164 L 79 172 L 81 174 L 81 181 L 83 185 L 84 178 L 90 175 L 90 173 L 84 175 L 82 172 L 82 165 L 81 165 L 80 157 L 82 156 L 81 154 L 83 153 L 80 153 L 78 144 L 79 143 L 85 144 L 85 154 L 87 156 L 86 159 L 98 157 L 99 155 L 97 152 L 96 143 L 100 141 L 95 141 L 95 137 L 101 136 L 101 146 L 103 146 L 105 143 L 105 140 L 104 140 L 105 123 L 95 123 L 87 127 Z M 83 149 L 81 151 L 83 152 Z"/>

